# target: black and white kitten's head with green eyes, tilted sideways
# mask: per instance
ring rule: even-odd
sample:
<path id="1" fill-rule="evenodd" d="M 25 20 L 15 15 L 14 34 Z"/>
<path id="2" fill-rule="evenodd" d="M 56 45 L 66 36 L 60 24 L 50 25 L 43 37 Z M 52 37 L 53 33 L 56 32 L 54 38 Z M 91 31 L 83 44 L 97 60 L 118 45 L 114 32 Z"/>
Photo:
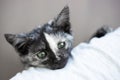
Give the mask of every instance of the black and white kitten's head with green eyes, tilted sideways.
<path id="1" fill-rule="evenodd" d="M 5 34 L 27 66 L 63 68 L 72 49 L 68 6 L 58 16 L 29 33 Z"/>

